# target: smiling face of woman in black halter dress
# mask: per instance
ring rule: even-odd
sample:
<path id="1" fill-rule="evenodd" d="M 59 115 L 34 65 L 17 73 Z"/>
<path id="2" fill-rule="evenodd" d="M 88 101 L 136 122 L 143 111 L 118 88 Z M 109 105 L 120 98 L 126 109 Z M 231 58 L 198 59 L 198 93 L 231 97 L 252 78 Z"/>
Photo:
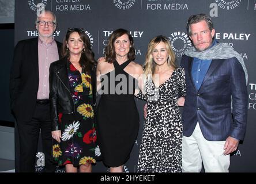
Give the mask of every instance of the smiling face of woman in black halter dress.
<path id="1" fill-rule="evenodd" d="M 127 57 L 130 51 L 131 43 L 127 34 L 118 37 L 114 42 L 115 54 L 118 57 Z"/>

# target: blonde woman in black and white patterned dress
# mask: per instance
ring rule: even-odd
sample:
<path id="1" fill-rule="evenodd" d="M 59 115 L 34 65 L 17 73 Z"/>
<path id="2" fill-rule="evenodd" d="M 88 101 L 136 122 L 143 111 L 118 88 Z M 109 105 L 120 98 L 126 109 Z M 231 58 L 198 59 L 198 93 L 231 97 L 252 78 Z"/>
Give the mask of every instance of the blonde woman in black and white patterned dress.
<path id="1" fill-rule="evenodd" d="M 182 120 L 178 104 L 185 100 L 185 73 L 182 67 L 176 67 L 167 37 L 157 36 L 150 41 L 144 74 L 145 82 L 137 97 L 147 101 L 148 107 L 138 172 L 181 172 Z"/>

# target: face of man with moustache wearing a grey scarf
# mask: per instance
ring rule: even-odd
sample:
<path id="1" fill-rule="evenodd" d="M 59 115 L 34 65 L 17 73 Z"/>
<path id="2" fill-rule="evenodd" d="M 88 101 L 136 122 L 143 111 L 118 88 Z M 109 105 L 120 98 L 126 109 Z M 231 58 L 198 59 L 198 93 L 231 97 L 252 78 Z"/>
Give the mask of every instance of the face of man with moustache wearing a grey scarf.
<path id="1" fill-rule="evenodd" d="M 190 39 L 198 51 L 205 51 L 212 45 L 215 30 L 210 30 L 206 21 L 190 25 Z"/>

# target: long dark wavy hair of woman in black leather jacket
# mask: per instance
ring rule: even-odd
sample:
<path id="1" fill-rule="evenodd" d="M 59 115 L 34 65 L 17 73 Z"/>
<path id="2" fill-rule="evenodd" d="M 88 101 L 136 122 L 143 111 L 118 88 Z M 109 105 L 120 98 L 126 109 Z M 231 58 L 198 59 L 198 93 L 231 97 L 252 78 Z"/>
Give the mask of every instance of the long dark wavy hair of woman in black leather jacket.
<path id="1" fill-rule="evenodd" d="M 79 64 L 85 72 L 89 73 L 95 66 L 96 60 L 94 58 L 94 53 L 91 48 L 89 37 L 85 34 L 84 29 L 69 28 L 67 30 L 66 36 L 63 39 L 62 56 L 67 57 L 67 59 L 70 59 L 70 51 L 67 48 L 67 40 L 69 40 L 70 34 L 74 32 L 77 32 L 82 41 L 84 42 L 84 51 L 82 51 L 81 53 Z"/>

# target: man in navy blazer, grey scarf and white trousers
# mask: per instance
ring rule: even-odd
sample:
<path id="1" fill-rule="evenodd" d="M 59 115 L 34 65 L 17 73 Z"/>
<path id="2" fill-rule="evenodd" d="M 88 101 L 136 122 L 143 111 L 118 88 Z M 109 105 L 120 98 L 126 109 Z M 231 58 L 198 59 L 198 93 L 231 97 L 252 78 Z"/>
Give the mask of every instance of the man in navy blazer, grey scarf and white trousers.
<path id="1" fill-rule="evenodd" d="M 183 172 L 228 172 L 229 154 L 243 140 L 247 121 L 247 71 L 239 53 L 214 40 L 206 14 L 191 16 L 187 32 L 194 47 L 182 56 Z"/>

